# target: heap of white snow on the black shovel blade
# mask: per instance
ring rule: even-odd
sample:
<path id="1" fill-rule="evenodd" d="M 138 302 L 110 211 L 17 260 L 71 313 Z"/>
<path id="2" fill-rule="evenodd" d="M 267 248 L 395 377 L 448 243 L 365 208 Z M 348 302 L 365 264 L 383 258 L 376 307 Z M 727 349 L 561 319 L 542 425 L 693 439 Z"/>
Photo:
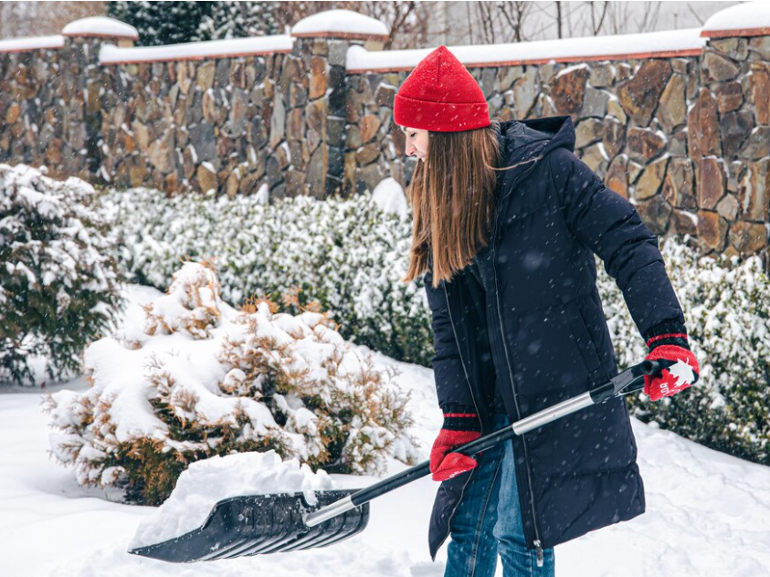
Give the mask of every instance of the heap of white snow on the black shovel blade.
<path id="1" fill-rule="evenodd" d="M 129 549 L 160 543 L 195 530 L 225 498 L 241 495 L 302 492 L 311 505 L 315 491 L 338 488 L 326 471 L 313 473 L 297 459 L 282 461 L 275 451 L 213 456 L 192 463 L 171 496 L 153 515 L 142 519 Z"/>

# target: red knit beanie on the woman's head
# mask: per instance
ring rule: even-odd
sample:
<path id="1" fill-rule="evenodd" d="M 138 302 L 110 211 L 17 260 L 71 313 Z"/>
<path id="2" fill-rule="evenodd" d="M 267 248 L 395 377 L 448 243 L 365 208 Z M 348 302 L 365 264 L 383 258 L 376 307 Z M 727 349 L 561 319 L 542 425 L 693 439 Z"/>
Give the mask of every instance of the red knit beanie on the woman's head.
<path id="1" fill-rule="evenodd" d="M 490 125 L 490 107 L 468 68 L 441 45 L 420 60 L 398 89 L 393 120 L 427 131 L 470 131 Z"/>

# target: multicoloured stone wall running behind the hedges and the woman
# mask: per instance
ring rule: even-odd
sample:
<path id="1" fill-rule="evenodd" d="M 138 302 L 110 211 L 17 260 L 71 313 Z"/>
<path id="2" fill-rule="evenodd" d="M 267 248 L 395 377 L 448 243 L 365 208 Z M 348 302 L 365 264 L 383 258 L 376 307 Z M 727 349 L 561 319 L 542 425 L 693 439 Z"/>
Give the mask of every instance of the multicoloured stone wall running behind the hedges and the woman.
<path id="1" fill-rule="evenodd" d="M 0 162 L 167 194 L 267 185 L 271 198 L 322 198 L 388 176 L 406 185 L 414 161 L 393 100 L 422 53 L 373 52 L 376 26 L 295 29 L 269 49 L 247 39 L 181 56 L 98 34 L 21 51 L 0 42 Z M 575 152 L 656 234 L 766 255 L 770 30 L 701 36 L 585 58 L 506 59 L 496 48 L 495 61 L 467 66 L 502 120 L 571 115 Z M 123 48 L 105 47 L 115 39 Z M 351 66 L 355 50 L 386 64 Z"/>

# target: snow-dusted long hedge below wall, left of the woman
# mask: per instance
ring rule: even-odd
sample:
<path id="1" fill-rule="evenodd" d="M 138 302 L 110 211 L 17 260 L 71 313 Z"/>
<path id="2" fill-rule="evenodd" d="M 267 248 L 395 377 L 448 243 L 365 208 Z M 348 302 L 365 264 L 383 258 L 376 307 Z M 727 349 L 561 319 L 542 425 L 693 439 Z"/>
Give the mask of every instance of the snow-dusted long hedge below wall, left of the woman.
<path id="1" fill-rule="evenodd" d="M 102 202 L 120 223 L 118 260 L 135 282 L 161 289 L 180 260 L 210 258 L 222 298 L 234 305 L 250 294 L 285 312 L 317 301 L 345 339 L 408 362 L 427 364 L 432 356 L 421 280 L 400 280 L 411 215 L 383 211 L 373 194 L 263 205 L 258 196 L 167 198 L 136 188 L 110 191 Z"/>

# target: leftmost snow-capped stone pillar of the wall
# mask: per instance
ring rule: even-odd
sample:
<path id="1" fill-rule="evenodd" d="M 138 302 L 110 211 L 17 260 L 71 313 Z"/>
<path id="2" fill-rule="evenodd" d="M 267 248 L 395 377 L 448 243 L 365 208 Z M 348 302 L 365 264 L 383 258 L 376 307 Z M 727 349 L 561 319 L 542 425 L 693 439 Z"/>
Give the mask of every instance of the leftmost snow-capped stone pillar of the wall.
<path id="1" fill-rule="evenodd" d="M 70 153 L 62 158 L 68 174 L 77 174 L 92 181 L 99 177 L 103 161 L 101 150 L 101 74 L 99 50 L 102 42 L 114 41 L 121 46 L 133 46 L 139 38 L 136 28 L 119 20 L 103 16 L 82 18 L 70 22 L 61 31 L 66 63 L 64 142 Z"/>

